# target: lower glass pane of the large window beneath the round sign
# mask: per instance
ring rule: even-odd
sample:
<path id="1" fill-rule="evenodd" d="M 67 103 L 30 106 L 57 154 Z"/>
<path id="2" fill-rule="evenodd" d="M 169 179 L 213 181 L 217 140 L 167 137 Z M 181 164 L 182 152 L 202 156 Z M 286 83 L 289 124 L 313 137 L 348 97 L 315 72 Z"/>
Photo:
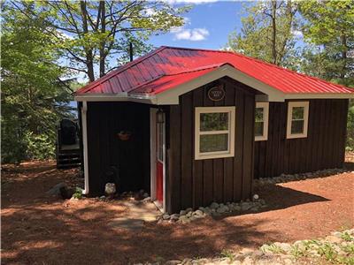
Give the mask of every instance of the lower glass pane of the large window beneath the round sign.
<path id="1" fill-rule="evenodd" d="M 228 134 L 205 134 L 200 136 L 200 152 L 227 151 Z"/>

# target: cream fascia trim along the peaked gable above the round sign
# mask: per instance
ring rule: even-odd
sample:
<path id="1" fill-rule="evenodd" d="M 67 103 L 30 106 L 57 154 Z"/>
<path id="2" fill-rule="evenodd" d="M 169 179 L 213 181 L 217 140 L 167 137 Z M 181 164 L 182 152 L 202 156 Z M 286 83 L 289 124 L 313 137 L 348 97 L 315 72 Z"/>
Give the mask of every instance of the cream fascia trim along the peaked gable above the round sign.
<path id="1" fill-rule="evenodd" d="M 284 102 L 284 94 L 276 90 L 273 87 L 270 87 L 258 79 L 254 79 L 249 75 L 235 69 L 231 65 L 223 65 L 218 69 L 208 72 L 203 76 L 192 79 L 189 82 L 183 83 L 180 86 L 173 87 L 173 89 L 166 90 L 164 92 L 156 95 L 156 103 L 158 105 L 173 105 L 179 103 L 179 96 L 189 91 L 196 89 L 197 87 L 202 87 L 205 84 L 208 84 L 216 79 L 220 79 L 222 77 L 229 77 L 231 79 L 235 79 L 249 87 L 253 87 L 258 91 L 268 95 L 268 100 L 270 102 Z"/>

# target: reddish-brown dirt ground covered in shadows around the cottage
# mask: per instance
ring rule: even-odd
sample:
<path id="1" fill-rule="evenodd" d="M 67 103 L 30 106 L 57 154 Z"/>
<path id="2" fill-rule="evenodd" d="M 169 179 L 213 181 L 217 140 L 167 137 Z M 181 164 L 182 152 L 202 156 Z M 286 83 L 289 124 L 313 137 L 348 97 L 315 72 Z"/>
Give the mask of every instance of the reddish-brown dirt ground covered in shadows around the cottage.
<path id="1" fill-rule="evenodd" d="M 323 237 L 354 226 L 354 173 L 266 186 L 262 213 L 211 217 L 189 224 L 147 223 L 142 231 L 112 230 L 125 214 L 119 201 L 63 201 L 45 192 L 81 181 L 55 164 L 3 166 L 2 264 L 127 264 L 212 257 L 223 249 Z"/>

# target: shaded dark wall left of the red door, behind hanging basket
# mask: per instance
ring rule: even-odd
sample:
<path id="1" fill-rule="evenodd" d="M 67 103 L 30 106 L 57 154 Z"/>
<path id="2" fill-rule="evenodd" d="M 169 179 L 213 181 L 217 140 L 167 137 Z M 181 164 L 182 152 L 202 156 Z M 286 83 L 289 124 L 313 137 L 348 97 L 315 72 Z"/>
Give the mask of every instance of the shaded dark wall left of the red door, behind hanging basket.
<path id="1" fill-rule="evenodd" d="M 104 171 L 119 169 L 119 192 L 150 192 L 150 106 L 131 102 L 88 102 L 89 193 L 104 193 Z M 132 132 L 122 141 L 117 133 Z"/>

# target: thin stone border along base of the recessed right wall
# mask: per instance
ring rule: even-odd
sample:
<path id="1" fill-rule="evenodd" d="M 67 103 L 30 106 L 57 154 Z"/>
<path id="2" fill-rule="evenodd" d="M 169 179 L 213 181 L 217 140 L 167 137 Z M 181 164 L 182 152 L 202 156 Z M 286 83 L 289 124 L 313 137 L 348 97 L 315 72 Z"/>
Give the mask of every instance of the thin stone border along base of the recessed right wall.
<path id="1" fill-rule="evenodd" d="M 328 176 L 338 175 L 345 172 L 350 172 L 350 170 L 345 169 L 328 169 L 328 170 L 317 170 L 314 172 L 306 172 L 300 174 L 281 174 L 281 176 L 273 178 L 256 178 L 253 180 L 254 186 L 266 186 L 273 185 L 277 183 L 285 183 L 296 180 L 304 180 L 307 178 L 325 178 Z"/>

